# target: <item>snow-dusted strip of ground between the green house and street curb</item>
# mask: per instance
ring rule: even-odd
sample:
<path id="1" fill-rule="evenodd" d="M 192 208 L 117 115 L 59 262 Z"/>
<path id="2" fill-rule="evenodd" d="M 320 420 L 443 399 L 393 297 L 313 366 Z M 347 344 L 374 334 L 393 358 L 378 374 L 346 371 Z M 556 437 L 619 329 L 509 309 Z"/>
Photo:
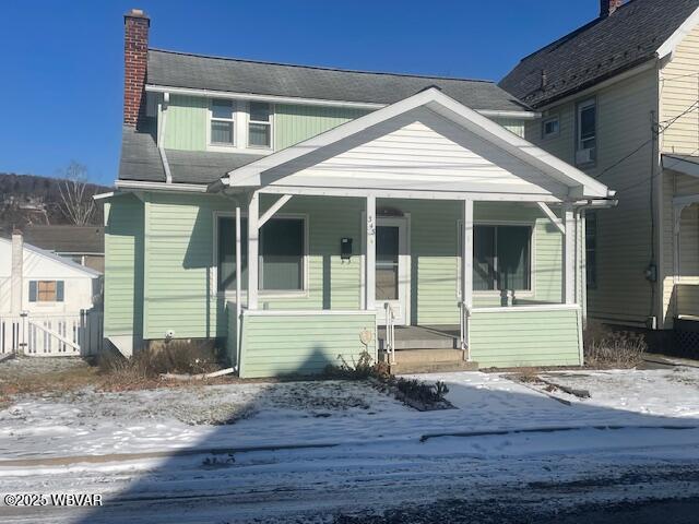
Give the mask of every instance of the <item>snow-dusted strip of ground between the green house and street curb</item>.
<path id="1" fill-rule="evenodd" d="M 498 373 L 425 374 L 419 378 L 445 381 L 459 408 L 429 413 L 367 383 L 337 381 L 24 396 L 0 412 L 0 460 L 688 424 L 699 419 L 699 370 L 682 369 L 556 373 L 555 380 L 592 392 L 585 401 L 570 397 L 571 406 Z"/>

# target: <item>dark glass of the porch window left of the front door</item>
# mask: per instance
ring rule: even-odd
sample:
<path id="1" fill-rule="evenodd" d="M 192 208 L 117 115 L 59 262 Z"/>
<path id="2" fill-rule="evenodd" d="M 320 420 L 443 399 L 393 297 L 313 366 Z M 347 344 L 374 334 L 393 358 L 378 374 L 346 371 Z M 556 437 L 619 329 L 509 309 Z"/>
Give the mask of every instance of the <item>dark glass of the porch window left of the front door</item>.
<path id="1" fill-rule="evenodd" d="M 248 221 L 240 219 L 240 287 L 248 287 Z M 236 287 L 236 221 L 218 217 L 218 290 Z M 304 218 L 270 218 L 260 228 L 258 287 L 265 291 L 304 289 L 306 224 Z"/>

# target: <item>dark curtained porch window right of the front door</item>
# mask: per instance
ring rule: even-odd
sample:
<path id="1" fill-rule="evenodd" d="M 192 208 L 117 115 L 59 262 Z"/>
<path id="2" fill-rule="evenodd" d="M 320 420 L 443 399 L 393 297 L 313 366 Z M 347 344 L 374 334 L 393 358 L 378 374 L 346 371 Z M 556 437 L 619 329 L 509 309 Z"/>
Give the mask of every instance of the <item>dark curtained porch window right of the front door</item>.
<path id="1" fill-rule="evenodd" d="M 463 225 L 460 225 L 459 255 Z M 477 225 L 473 227 L 473 290 L 532 289 L 532 227 Z"/>

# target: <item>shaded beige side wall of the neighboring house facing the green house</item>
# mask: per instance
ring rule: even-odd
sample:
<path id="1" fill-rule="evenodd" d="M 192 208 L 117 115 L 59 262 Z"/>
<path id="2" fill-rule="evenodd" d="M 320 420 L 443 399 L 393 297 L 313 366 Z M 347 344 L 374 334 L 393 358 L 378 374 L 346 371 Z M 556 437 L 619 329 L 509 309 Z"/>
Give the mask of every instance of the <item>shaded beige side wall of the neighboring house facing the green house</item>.
<path id="1" fill-rule="evenodd" d="M 655 70 L 548 109 L 544 117 L 559 117 L 559 135 L 542 140 L 541 121 L 535 121 L 528 123 L 526 139 L 574 164 L 576 105 L 591 97 L 597 100 L 597 162 L 584 170 L 619 191 L 619 205 L 597 215 L 597 286 L 588 290 L 588 310 L 594 318 L 642 323 L 653 307 L 644 270 L 651 260 L 650 181 L 656 168 L 651 140 L 651 111 L 657 110 Z"/>

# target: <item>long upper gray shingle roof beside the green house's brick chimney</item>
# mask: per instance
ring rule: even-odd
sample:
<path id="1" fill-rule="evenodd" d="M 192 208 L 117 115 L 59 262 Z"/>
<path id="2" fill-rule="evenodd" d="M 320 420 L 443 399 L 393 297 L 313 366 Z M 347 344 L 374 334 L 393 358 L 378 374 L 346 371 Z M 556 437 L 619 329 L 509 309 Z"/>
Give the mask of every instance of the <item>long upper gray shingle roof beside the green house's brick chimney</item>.
<path id="1" fill-rule="evenodd" d="M 393 104 L 427 87 L 472 109 L 530 110 L 493 82 L 288 66 L 149 50 L 147 83 L 233 93 Z"/>

